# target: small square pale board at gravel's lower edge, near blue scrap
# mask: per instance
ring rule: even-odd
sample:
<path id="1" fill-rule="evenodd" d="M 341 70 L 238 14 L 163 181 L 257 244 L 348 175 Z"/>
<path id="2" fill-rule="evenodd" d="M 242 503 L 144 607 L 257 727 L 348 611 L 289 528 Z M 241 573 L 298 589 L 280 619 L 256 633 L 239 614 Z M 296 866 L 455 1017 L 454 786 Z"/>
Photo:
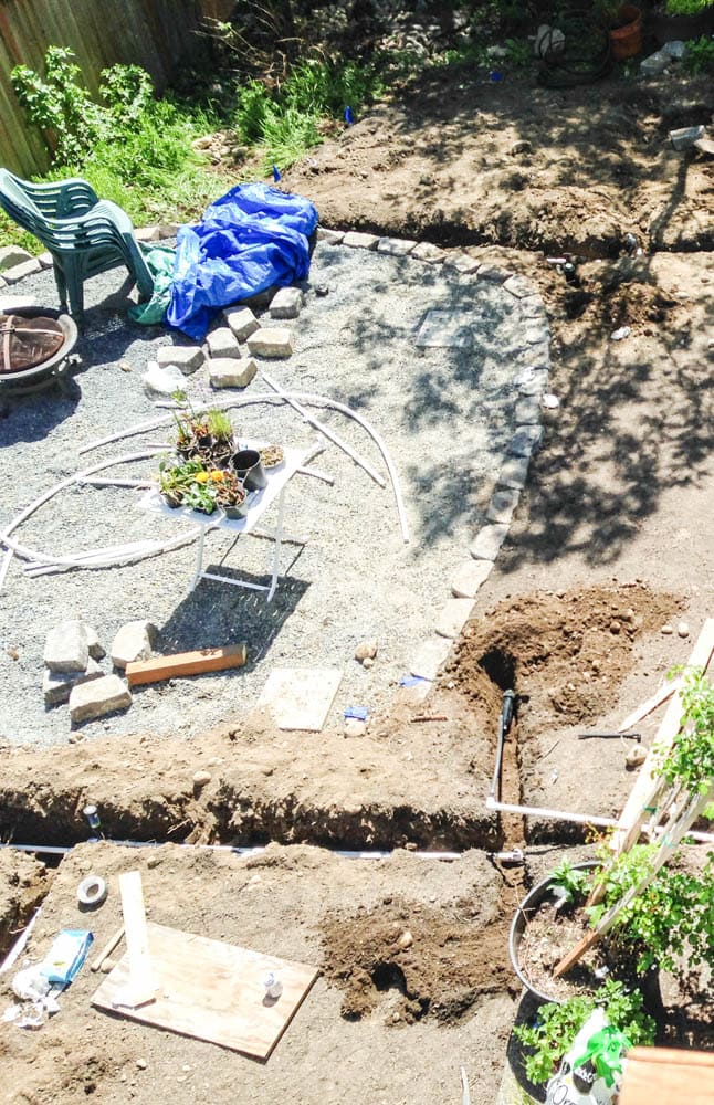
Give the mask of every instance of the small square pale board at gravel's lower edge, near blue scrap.
<path id="1" fill-rule="evenodd" d="M 279 729 L 319 733 L 343 673 L 338 667 L 276 667 L 267 677 L 259 706 L 266 706 Z"/>

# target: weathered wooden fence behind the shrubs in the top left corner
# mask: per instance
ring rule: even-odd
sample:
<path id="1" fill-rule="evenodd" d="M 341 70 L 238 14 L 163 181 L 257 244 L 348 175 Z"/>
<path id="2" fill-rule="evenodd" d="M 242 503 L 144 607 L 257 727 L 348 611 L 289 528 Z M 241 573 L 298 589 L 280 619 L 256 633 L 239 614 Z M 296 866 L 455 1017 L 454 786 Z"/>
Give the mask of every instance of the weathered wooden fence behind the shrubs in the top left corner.
<path id="1" fill-rule="evenodd" d="M 15 99 L 15 65 L 43 70 L 48 46 L 70 46 L 87 85 L 122 63 L 140 65 L 158 88 L 198 44 L 203 17 L 225 19 L 231 0 L 0 0 L 0 165 L 22 176 L 43 172 L 48 156 Z"/>

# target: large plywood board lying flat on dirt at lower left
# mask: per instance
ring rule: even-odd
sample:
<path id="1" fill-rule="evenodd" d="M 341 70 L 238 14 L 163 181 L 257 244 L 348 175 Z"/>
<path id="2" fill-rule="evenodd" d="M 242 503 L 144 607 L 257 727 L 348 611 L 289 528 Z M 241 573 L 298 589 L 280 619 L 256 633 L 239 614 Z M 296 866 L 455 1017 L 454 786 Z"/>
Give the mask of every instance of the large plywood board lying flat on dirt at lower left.
<path id="1" fill-rule="evenodd" d="M 249 951 L 204 936 L 147 924 L 156 1000 L 140 1009 L 115 1001 L 129 980 L 128 956 L 104 979 L 92 1004 L 181 1035 L 267 1059 L 285 1031 L 317 969 Z M 275 1001 L 265 998 L 263 979 L 274 971 L 283 983 Z"/>

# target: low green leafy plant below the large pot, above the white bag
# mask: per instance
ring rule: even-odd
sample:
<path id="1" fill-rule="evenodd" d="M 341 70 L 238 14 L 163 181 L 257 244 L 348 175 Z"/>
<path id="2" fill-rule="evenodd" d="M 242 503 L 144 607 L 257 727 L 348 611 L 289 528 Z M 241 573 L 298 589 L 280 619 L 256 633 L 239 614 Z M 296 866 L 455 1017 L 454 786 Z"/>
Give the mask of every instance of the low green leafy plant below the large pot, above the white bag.
<path id="1" fill-rule="evenodd" d="M 538 1010 L 535 1025 L 516 1024 L 514 1035 L 531 1049 L 526 1075 L 535 1085 L 552 1077 L 560 1059 L 592 1011 L 601 1007 L 612 1028 L 619 1029 L 631 1044 L 654 1043 L 654 1021 L 643 1009 L 639 990 L 626 990 L 621 982 L 607 979 L 590 998 L 569 998 L 559 1004 L 548 1002 Z"/>

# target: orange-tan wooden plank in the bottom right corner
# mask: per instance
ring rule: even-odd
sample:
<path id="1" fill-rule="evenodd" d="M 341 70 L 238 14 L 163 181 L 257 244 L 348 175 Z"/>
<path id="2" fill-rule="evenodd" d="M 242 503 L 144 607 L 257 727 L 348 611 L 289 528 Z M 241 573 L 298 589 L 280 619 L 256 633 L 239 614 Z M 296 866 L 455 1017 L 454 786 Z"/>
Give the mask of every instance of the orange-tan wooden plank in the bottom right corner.
<path id="1" fill-rule="evenodd" d="M 713 1105 L 714 1054 L 674 1048 L 628 1052 L 620 1105 Z"/>

